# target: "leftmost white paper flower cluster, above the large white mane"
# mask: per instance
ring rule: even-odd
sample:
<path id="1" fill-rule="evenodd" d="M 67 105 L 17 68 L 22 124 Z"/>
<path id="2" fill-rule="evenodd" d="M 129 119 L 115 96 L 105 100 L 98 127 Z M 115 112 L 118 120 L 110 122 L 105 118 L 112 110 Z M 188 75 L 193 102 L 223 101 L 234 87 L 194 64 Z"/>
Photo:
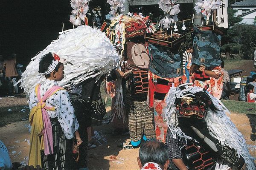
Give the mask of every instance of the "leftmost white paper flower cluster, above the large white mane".
<path id="1" fill-rule="evenodd" d="M 75 26 L 81 26 L 81 21 L 84 21 L 86 13 L 89 9 L 88 2 L 90 0 L 71 0 L 70 5 L 73 8 L 70 15 L 70 22 Z"/>

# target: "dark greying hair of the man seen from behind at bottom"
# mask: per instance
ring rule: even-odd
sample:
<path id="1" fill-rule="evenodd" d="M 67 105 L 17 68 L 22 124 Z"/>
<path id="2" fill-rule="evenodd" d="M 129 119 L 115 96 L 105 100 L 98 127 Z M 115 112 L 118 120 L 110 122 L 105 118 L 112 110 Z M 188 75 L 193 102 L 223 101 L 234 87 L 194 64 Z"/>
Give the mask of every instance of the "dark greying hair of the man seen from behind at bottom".
<path id="1" fill-rule="evenodd" d="M 148 162 L 154 162 L 163 168 L 169 159 L 169 153 L 163 142 L 147 141 L 140 146 L 139 158 L 142 166 Z"/>

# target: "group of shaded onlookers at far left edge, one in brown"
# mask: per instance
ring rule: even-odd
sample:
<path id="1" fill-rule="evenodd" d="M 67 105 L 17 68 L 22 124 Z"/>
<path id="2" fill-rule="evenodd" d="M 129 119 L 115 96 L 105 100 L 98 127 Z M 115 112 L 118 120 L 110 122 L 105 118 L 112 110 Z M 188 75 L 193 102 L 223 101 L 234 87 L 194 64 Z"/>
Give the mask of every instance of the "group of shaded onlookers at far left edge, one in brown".
<path id="1" fill-rule="evenodd" d="M 23 65 L 18 64 L 16 54 L 0 54 L 0 94 L 12 95 L 22 92 L 15 83 L 20 79 Z M 15 86 L 14 86 L 15 85 Z"/>

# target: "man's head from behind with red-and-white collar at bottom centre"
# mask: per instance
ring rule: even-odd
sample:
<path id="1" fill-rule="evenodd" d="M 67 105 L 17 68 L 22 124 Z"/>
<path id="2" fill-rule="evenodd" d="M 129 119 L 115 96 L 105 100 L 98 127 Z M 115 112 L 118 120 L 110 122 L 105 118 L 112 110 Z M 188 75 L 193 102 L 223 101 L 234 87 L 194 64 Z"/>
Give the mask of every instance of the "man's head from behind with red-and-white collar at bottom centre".
<path id="1" fill-rule="evenodd" d="M 170 162 L 166 145 L 158 141 L 141 144 L 137 160 L 141 170 L 167 170 Z"/>

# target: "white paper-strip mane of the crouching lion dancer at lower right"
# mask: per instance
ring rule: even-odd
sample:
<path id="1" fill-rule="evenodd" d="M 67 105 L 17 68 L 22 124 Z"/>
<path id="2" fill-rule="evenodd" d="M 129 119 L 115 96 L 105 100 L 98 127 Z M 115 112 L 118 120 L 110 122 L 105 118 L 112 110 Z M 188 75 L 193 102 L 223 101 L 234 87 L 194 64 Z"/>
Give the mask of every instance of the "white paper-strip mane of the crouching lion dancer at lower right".
<path id="1" fill-rule="evenodd" d="M 168 92 L 168 97 L 166 98 L 167 107 L 164 110 L 164 115 L 166 122 L 171 130 L 171 136 L 177 138 L 177 136 L 185 139 L 191 139 L 191 137 L 186 136 L 182 132 L 180 127 L 178 127 L 178 119 L 176 114 L 176 104 L 175 100 L 178 98 L 183 98 L 187 95 L 193 95 L 196 92 L 203 91 L 203 88 L 193 87 L 191 83 L 183 84 L 185 88 L 181 90 L 179 87 L 171 87 Z M 188 94 L 189 92 L 189 94 Z M 239 156 L 244 158 L 248 170 L 255 170 L 254 158 L 250 155 L 245 139 L 241 132 L 236 128 L 236 125 L 231 122 L 230 117 L 226 113 L 230 113 L 227 108 L 221 103 L 220 100 L 216 99 L 214 96 L 209 94 L 213 104 L 218 109 L 217 112 L 211 111 L 208 108 L 205 122 L 207 123 L 207 128 L 210 134 L 222 145 L 229 146 L 230 148 L 235 148 Z M 228 170 L 229 167 L 225 163 L 217 163 L 215 170 Z"/>

